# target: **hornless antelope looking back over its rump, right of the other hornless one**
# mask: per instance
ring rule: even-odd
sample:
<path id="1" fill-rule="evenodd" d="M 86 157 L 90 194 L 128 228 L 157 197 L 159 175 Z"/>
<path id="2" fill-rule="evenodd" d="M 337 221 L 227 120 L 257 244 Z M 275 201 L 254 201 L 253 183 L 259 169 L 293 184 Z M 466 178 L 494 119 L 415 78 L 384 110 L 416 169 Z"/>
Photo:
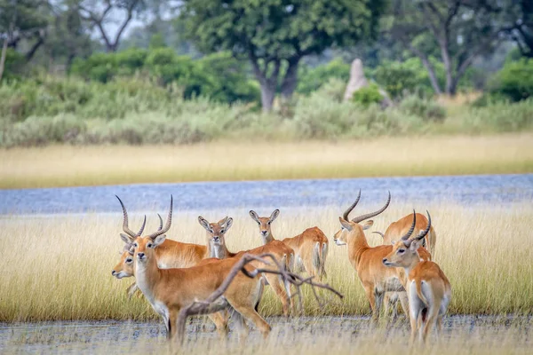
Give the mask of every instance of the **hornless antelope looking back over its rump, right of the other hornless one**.
<path id="1" fill-rule="evenodd" d="M 265 245 L 275 241 L 272 233 L 272 223 L 279 214 L 280 210 L 274 209 L 270 217 L 259 217 L 254 210 L 250 211 L 251 219 L 259 225 L 259 233 Z M 325 264 L 326 256 L 328 256 L 329 241 L 320 228 L 316 226 L 307 228 L 296 237 L 285 238 L 282 242 L 294 250 L 296 264 L 299 269 L 303 265 L 307 274 L 318 276 L 319 280 L 326 276 Z"/>

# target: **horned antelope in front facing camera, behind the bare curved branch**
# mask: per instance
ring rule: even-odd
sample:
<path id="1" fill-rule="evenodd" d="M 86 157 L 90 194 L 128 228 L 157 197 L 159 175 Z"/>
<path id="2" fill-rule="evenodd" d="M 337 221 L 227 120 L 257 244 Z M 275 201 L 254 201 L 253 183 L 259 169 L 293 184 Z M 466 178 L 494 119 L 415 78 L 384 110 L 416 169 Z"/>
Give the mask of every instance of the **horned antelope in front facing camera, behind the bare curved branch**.
<path id="1" fill-rule="evenodd" d="M 163 229 L 144 238 L 138 236 L 133 241 L 133 247 L 137 285 L 155 312 L 163 318 L 172 338 L 177 332 L 176 320 L 180 309 L 209 297 L 226 279 L 238 259 L 216 260 L 190 268 L 160 269 L 155 250 L 165 241 L 164 233 L 171 228 L 171 220 L 172 204 Z M 270 332 L 270 326 L 255 310 L 262 288 L 260 276 L 250 278 L 239 272 L 213 310 L 232 308 L 236 311 L 235 314 L 250 319 L 266 336 Z"/>

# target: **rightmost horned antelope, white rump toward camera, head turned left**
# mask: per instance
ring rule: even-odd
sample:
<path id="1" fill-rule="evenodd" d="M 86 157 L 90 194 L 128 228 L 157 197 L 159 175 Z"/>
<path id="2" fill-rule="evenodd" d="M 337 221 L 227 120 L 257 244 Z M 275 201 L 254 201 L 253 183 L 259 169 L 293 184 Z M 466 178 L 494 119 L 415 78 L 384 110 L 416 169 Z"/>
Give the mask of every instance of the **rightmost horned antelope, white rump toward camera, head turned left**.
<path id="1" fill-rule="evenodd" d="M 407 274 L 405 288 L 409 297 L 411 343 L 418 334 L 426 342 L 427 335 L 436 324 L 440 333 L 442 317 L 448 310 L 451 299 L 449 280 L 438 264 L 421 261 L 418 250 L 421 240 L 431 229 L 431 216 L 427 212 L 427 227 L 417 237 L 409 239 L 406 234 L 394 243 L 393 250 L 383 258 L 387 267 L 403 268 Z"/>

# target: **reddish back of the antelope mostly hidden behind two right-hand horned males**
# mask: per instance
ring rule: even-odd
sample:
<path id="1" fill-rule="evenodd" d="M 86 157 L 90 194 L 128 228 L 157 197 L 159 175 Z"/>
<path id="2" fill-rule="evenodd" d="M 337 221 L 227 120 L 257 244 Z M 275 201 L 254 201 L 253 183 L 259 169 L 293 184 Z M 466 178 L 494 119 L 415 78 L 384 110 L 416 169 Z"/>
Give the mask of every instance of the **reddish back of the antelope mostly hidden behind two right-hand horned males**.
<path id="1" fill-rule="evenodd" d="M 391 241 L 397 241 L 402 235 L 407 233 L 410 229 L 411 221 L 413 219 L 412 215 L 408 215 L 398 219 L 396 222 L 391 223 L 391 225 L 386 228 L 385 234 L 381 232 L 372 232 L 381 235 L 383 238 L 383 244 L 388 245 Z M 417 213 L 416 215 L 417 225 L 415 225 L 415 234 L 420 233 L 426 229 L 427 218 L 426 216 Z M 435 242 L 437 241 L 437 234 L 435 233 L 433 225 L 429 233 L 426 234 L 426 237 L 422 240 L 422 247 L 426 248 L 427 251 L 433 256 L 435 251 Z"/>

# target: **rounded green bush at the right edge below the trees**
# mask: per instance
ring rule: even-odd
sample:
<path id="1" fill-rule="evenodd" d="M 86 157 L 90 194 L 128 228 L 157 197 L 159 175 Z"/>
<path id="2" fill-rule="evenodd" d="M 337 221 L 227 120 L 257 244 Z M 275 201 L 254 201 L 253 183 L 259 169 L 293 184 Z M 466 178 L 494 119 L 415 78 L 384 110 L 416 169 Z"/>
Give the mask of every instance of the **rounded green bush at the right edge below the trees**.
<path id="1" fill-rule="evenodd" d="M 533 59 L 507 61 L 489 82 L 489 92 L 513 102 L 533 96 Z"/>

